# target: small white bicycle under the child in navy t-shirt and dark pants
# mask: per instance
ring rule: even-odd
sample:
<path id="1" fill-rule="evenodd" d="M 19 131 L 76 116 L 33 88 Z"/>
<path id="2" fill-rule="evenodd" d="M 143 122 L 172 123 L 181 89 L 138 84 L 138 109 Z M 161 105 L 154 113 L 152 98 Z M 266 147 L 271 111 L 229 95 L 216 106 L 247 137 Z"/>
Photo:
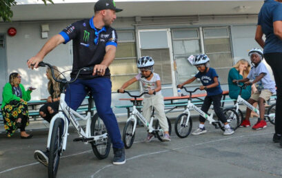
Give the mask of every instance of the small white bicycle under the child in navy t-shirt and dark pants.
<path id="1" fill-rule="evenodd" d="M 201 115 L 206 120 L 208 120 L 209 123 L 211 123 L 215 128 L 221 128 L 221 130 L 224 131 L 225 130 L 224 124 L 221 123 L 221 121 L 219 121 L 219 120 L 216 121 L 216 120 L 213 119 L 213 116 L 214 116 L 213 111 L 209 115 L 209 114 L 203 112 L 203 110 L 201 110 L 197 106 L 195 106 L 194 103 L 192 103 L 192 100 L 191 100 L 192 93 L 196 92 L 197 90 L 200 90 L 200 88 L 196 88 L 193 91 L 187 90 L 184 86 L 183 86 L 183 88 L 186 92 L 190 93 L 190 97 L 188 99 L 188 105 L 186 106 L 186 109 L 175 120 L 174 130 L 177 133 L 177 136 L 180 137 L 180 138 L 188 137 L 188 135 L 190 134 L 190 132 L 192 130 L 192 119 L 190 117 L 191 116 L 190 109 L 198 112 L 199 115 Z M 236 128 L 238 128 L 238 126 L 239 126 L 239 115 L 237 114 L 237 112 L 235 110 L 231 109 L 231 108 L 225 108 L 223 110 L 223 114 L 225 115 L 228 123 L 230 124 L 230 127 L 233 130 L 236 130 Z"/>

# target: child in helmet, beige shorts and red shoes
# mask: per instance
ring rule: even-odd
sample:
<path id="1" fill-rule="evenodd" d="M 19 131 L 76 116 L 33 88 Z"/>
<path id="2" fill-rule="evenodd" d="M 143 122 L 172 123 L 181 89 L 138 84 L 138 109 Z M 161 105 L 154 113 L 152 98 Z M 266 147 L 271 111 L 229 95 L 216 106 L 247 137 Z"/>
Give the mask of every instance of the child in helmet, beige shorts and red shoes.
<path id="1" fill-rule="evenodd" d="M 252 127 L 254 130 L 261 130 L 266 128 L 267 124 L 264 120 L 265 114 L 265 101 L 270 99 L 271 95 L 276 92 L 275 82 L 270 78 L 270 73 L 268 69 L 265 67 L 264 63 L 261 62 L 263 60 L 263 51 L 260 48 L 253 48 L 249 52 L 250 59 L 252 61 L 252 69 L 248 77 L 241 80 L 233 80 L 234 83 L 237 82 L 245 82 L 247 85 L 252 85 L 252 83 L 256 86 L 256 92 L 251 95 L 248 102 L 253 104 L 255 102 L 259 103 L 259 118 L 256 124 Z M 251 82 L 250 80 L 253 81 Z M 247 108 L 245 119 L 242 121 L 240 127 L 250 127 L 250 108 Z"/>

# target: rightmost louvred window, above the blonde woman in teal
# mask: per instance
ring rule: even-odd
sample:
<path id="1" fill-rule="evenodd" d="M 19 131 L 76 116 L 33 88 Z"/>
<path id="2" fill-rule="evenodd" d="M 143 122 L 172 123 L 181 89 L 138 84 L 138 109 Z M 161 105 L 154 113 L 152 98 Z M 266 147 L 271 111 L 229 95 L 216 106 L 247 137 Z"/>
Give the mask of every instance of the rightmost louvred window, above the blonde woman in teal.
<path id="1" fill-rule="evenodd" d="M 221 83 L 228 83 L 228 71 L 233 65 L 228 27 L 203 28 L 205 54 L 216 69 Z"/>

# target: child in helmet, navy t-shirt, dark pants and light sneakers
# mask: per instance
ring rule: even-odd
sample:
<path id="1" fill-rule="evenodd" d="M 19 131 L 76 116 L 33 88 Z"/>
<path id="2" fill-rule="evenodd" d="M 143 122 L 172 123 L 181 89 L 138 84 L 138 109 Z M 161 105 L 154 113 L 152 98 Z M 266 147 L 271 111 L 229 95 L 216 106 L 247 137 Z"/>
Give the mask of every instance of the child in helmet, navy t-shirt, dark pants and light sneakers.
<path id="1" fill-rule="evenodd" d="M 178 87 L 182 88 L 185 84 L 192 83 L 195 79 L 199 78 L 203 84 L 203 86 L 199 87 L 200 90 L 206 90 L 208 94 L 203 101 L 201 110 L 205 113 L 208 112 L 211 104 L 213 103 L 216 116 L 219 117 L 222 123 L 224 123 L 225 131 L 223 132 L 223 135 L 232 135 L 234 134 L 234 130 L 230 127 L 225 115 L 223 114 L 223 110 L 221 109 L 222 90 L 218 79 L 219 76 L 216 74 L 214 68 L 210 68 L 209 61 L 210 59 L 208 56 L 204 54 L 194 57 L 193 66 L 196 66 L 199 72 L 191 79 L 188 79 L 188 81 L 179 84 Z M 199 128 L 192 132 L 192 135 L 201 135 L 207 132 L 204 125 L 205 118 L 200 116 L 199 120 Z"/>

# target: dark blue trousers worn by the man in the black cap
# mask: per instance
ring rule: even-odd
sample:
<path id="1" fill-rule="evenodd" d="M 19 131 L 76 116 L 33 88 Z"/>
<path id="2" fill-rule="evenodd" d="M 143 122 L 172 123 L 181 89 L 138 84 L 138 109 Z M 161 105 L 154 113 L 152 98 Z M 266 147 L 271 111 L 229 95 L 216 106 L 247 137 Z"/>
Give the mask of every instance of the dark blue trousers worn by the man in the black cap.
<path id="1" fill-rule="evenodd" d="M 91 89 L 97 113 L 105 123 L 113 148 L 123 148 L 121 133 L 117 118 L 110 107 L 112 102 L 112 82 L 108 78 L 98 77 L 94 79 L 77 79 L 67 88 L 65 101 L 73 110 L 77 110 L 85 98 L 87 92 L 85 86 Z"/>

